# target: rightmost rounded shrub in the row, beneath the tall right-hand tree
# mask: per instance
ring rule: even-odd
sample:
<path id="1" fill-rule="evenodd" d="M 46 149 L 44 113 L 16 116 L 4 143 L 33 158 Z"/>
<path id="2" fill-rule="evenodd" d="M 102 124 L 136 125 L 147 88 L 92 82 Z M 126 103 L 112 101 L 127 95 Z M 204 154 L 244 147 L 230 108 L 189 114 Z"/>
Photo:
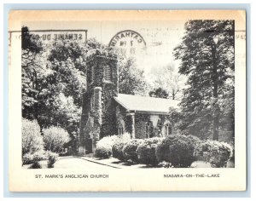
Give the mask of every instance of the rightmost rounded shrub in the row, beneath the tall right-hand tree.
<path id="1" fill-rule="evenodd" d="M 215 168 L 226 167 L 232 156 L 232 147 L 219 141 L 201 141 L 197 146 L 196 155 Z"/>

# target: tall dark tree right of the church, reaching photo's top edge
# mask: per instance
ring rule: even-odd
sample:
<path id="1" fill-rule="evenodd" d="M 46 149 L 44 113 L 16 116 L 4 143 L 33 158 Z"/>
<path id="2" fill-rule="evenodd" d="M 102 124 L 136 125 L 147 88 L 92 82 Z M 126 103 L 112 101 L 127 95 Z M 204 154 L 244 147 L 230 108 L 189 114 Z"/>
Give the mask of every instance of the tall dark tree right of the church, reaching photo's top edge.
<path id="1" fill-rule="evenodd" d="M 212 135 L 212 140 L 218 141 L 223 103 L 227 96 L 234 97 L 234 33 L 234 20 L 185 23 L 182 42 L 174 49 L 175 58 L 181 61 L 179 72 L 188 77 L 181 102 L 183 132 L 201 138 Z"/>

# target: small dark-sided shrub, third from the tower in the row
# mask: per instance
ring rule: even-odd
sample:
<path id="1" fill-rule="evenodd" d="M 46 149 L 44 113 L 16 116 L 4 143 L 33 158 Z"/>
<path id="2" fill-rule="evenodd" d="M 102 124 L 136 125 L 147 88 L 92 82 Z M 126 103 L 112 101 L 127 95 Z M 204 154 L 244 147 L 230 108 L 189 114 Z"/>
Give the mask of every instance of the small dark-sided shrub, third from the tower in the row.
<path id="1" fill-rule="evenodd" d="M 142 141 L 141 139 L 133 139 L 124 144 L 122 152 L 126 162 L 131 161 L 136 164 L 139 162 L 136 151 L 137 146 L 139 146 Z"/>

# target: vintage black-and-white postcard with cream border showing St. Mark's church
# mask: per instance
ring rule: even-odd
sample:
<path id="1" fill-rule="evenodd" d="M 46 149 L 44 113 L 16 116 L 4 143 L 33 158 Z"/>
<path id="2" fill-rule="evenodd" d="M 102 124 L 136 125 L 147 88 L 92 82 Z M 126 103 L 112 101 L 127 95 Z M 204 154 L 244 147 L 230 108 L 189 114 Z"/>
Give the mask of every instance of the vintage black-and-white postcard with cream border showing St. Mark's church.
<path id="1" fill-rule="evenodd" d="M 244 10 L 11 11 L 9 191 L 245 191 Z"/>

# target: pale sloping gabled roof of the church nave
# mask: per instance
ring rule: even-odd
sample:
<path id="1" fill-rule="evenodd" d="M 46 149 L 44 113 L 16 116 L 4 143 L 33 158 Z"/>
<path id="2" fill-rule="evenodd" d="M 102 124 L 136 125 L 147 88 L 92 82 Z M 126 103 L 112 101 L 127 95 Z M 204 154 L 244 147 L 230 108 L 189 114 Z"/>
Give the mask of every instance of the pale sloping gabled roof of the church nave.
<path id="1" fill-rule="evenodd" d="M 119 94 L 113 99 L 127 111 L 157 114 L 167 114 L 170 112 L 170 107 L 178 108 L 177 104 L 179 103 L 178 100 L 124 94 Z"/>

